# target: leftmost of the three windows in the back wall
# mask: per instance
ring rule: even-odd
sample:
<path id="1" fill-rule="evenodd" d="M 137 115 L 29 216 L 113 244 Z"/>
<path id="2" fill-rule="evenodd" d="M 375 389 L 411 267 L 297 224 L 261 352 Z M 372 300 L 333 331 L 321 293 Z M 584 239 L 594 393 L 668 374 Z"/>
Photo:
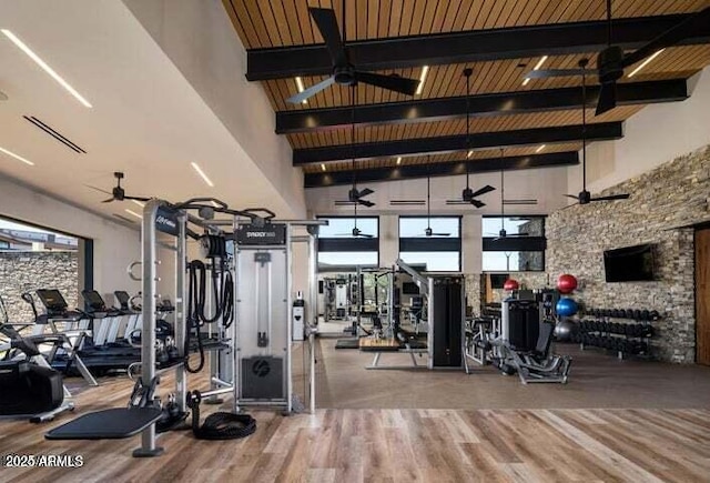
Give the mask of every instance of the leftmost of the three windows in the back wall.
<path id="1" fill-rule="evenodd" d="M 318 271 L 354 271 L 379 265 L 377 217 L 320 217 L 327 220 L 318 232 Z M 357 233 L 354 230 L 357 228 Z"/>

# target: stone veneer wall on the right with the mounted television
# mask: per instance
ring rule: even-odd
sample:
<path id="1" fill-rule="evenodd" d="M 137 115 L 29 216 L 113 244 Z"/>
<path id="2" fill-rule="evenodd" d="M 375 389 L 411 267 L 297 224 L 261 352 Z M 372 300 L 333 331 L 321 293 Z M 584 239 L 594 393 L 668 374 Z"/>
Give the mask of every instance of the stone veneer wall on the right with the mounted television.
<path id="1" fill-rule="evenodd" d="M 547 219 L 547 269 L 551 278 L 572 273 L 574 298 L 599 309 L 658 310 L 652 354 L 692 363 L 696 356 L 694 246 L 689 224 L 710 220 L 710 145 L 632 178 L 602 194 L 626 201 L 576 205 Z M 606 283 L 602 252 L 655 243 L 652 282 Z"/>

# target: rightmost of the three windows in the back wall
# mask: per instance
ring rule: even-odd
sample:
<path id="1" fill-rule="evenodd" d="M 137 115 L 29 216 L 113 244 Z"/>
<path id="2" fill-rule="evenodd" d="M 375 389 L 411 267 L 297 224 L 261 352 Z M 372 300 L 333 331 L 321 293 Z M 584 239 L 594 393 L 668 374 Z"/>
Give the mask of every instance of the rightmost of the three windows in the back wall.
<path id="1" fill-rule="evenodd" d="M 545 270 L 545 217 L 484 217 L 483 234 L 485 272 Z"/>

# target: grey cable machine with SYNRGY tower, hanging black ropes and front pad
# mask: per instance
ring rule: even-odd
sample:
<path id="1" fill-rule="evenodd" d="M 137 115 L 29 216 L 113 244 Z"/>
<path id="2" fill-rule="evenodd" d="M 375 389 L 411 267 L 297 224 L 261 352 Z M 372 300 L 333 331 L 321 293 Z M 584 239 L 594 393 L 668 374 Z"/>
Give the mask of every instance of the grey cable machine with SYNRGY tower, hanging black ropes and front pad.
<path id="1" fill-rule="evenodd" d="M 219 218 L 215 218 L 219 215 Z M 156 456 L 160 433 L 184 429 L 192 411 L 197 439 L 244 437 L 256 430 L 246 407 L 304 410 L 294 395 L 293 341 L 307 341 L 304 398 L 315 411 L 315 326 L 317 323 L 317 233 L 321 220 L 276 220 L 266 209 L 233 210 L 196 198 L 182 203 L 152 199 L 143 209 L 141 362 L 126 407 L 83 414 L 51 430 L 48 440 L 124 439 L 141 434 L 136 457 Z M 189 240 L 202 260 L 187 261 Z M 293 248 L 307 245 L 307 298 L 294 296 Z M 174 346 L 156 344 L 158 282 L 164 265 L 160 249 L 174 251 Z M 160 251 L 164 253 L 165 251 Z M 135 264 L 133 264 L 135 265 Z M 294 330 L 295 328 L 295 330 Z M 170 353 L 165 364 L 164 352 Z M 210 359 L 207 364 L 207 358 Z M 305 350 L 304 350 L 305 359 Z M 210 390 L 187 391 L 189 373 L 210 368 Z M 174 392 L 156 395 L 161 375 L 172 372 Z M 305 384 L 305 383 L 304 383 Z M 232 394 L 232 411 L 200 424 L 200 403 Z M 187 427 L 189 429 L 189 427 Z"/>

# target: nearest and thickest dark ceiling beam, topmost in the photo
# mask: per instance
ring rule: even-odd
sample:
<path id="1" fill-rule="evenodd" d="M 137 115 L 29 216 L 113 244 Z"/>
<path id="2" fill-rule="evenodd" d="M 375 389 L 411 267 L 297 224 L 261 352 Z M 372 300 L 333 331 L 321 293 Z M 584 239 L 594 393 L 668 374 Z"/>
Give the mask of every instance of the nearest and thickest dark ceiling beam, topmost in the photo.
<path id="1" fill-rule="evenodd" d="M 613 43 L 637 49 L 690 14 L 638 17 L 613 21 Z M 710 26 L 689 29 L 678 44 L 710 43 Z M 607 23 L 585 21 L 506 29 L 409 36 L 348 42 L 351 62 L 361 70 L 599 52 L 607 47 Z M 246 51 L 250 81 L 331 73 L 324 44 Z"/>

